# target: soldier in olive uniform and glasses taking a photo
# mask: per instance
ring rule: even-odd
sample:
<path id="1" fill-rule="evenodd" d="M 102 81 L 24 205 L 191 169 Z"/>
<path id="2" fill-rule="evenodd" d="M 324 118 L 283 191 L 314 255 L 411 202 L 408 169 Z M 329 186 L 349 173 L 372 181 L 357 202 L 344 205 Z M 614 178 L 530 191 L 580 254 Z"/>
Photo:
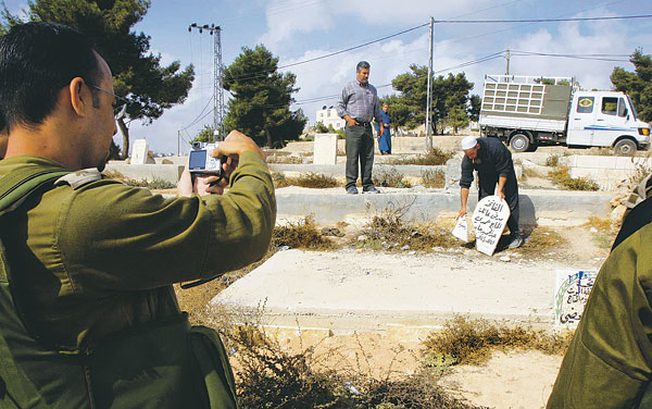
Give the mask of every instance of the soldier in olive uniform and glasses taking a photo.
<path id="1" fill-rule="evenodd" d="M 0 407 L 236 408 L 220 337 L 190 326 L 172 285 L 265 255 L 264 153 L 238 132 L 220 144 L 224 196 L 126 186 L 100 174 L 115 103 L 85 35 L 27 23 L 0 37 Z"/>

